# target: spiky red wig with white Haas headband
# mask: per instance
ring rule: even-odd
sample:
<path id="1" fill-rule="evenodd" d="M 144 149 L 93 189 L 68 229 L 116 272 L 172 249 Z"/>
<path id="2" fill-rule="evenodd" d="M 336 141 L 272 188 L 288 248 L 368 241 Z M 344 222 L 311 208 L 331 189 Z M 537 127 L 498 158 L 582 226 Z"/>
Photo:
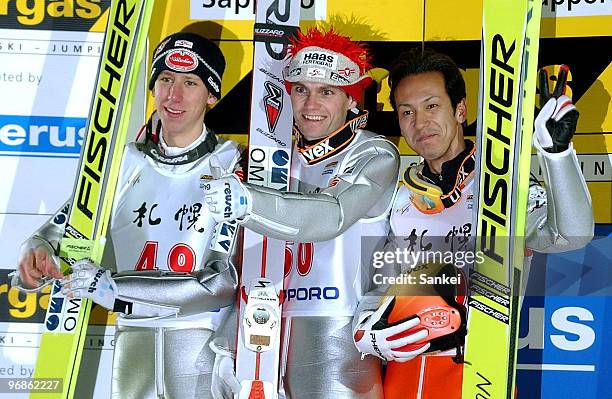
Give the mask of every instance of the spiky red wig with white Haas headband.
<path id="1" fill-rule="evenodd" d="M 291 40 L 289 65 L 285 71 L 285 86 L 291 92 L 292 83 L 309 81 L 338 86 L 359 101 L 363 89 L 372 79 L 366 71 L 371 57 L 367 46 L 338 34 L 310 28 Z"/>

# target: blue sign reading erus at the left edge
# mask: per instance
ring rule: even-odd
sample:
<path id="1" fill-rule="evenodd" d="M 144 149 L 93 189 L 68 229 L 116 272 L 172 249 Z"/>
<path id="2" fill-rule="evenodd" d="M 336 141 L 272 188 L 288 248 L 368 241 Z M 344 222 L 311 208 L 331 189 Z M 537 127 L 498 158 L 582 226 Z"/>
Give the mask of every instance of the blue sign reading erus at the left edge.
<path id="1" fill-rule="evenodd" d="M 0 115 L 0 155 L 77 158 L 85 118 Z"/>

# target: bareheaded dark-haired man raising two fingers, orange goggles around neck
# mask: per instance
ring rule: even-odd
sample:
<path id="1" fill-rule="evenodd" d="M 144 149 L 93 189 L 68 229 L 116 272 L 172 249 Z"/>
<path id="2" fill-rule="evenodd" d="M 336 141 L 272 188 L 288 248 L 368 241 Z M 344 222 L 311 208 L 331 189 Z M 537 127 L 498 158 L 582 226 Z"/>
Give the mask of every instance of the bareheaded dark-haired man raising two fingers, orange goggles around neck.
<path id="1" fill-rule="evenodd" d="M 562 67 L 551 95 L 548 77 L 540 71 L 542 109 L 535 120 L 534 147 L 545 184 L 542 187 L 534 179 L 529 187 L 523 286 L 533 251 L 569 251 L 583 247 L 593 236 L 591 198 L 571 142 L 578 111 L 564 94 L 566 77 Z M 475 145 L 463 137 L 467 106 L 461 72 L 446 55 L 418 48 L 400 56 L 390 81 L 402 136 L 424 162 L 409 166 L 401 175 L 385 252 L 406 249 L 416 241 L 409 249 L 414 254 L 469 251 L 461 246 L 473 235 L 473 192 L 478 180 L 474 178 Z M 396 261 L 382 265 L 379 272 L 397 276 L 423 267 L 431 265 Z M 444 397 L 460 399 L 463 364 L 453 358 L 455 347 L 461 349 L 465 328 L 450 334 L 455 337 L 446 344 L 442 340 L 447 337 L 434 339 L 433 330 L 423 328 L 415 316 L 429 306 L 426 301 L 422 308 L 407 307 L 409 311 L 399 320 L 388 320 L 396 304 L 414 297 L 404 292 L 406 299 L 390 296 L 381 304 L 387 288 L 381 285 L 364 296 L 354 321 L 359 351 L 388 362 L 385 398 L 436 398 L 443 392 Z M 465 313 L 465 292 L 452 297 L 450 302 L 445 298 L 446 305 L 463 308 Z"/>

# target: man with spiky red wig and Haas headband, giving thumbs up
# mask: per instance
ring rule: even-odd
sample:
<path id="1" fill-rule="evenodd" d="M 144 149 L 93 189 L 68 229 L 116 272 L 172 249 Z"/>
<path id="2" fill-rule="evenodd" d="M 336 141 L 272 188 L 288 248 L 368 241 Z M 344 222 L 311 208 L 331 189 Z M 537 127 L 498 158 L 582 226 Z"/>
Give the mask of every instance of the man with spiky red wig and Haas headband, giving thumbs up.
<path id="1" fill-rule="evenodd" d="M 367 49 L 318 29 L 299 34 L 292 45 L 284 73 L 296 134 L 290 192 L 227 176 L 212 184 L 206 203 L 218 221 L 238 219 L 288 241 L 281 363 L 286 397 L 382 398 L 380 361 L 359 360 L 351 323 L 372 281 L 371 255 L 388 231 L 399 154 L 364 129 L 368 114 L 356 108 L 372 80 Z M 218 378 L 236 387 L 231 374 L 220 371 Z"/>

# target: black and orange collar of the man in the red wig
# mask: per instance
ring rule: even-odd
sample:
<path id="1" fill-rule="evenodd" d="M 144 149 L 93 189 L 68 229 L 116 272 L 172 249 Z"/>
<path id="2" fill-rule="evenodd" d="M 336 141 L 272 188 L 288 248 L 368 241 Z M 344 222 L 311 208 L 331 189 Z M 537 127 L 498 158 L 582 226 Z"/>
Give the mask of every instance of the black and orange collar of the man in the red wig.
<path id="1" fill-rule="evenodd" d="M 306 164 L 317 164 L 346 148 L 357 135 L 357 130 L 363 129 L 367 122 L 368 111 L 352 109 L 347 114 L 346 122 L 338 130 L 312 141 L 306 140 L 297 126 L 294 126 L 293 133 L 297 137 L 297 150 Z"/>

